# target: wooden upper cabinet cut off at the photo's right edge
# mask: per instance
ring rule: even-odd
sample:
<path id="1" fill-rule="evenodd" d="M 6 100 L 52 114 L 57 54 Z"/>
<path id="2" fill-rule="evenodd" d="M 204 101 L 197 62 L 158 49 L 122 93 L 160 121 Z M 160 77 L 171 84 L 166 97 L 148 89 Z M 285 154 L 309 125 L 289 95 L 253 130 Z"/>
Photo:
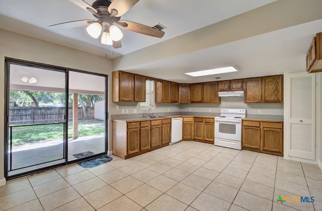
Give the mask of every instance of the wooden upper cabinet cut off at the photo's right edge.
<path id="1" fill-rule="evenodd" d="M 306 55 L 306 71 L 322 72 L 322 32 L 316 33 Z"/>

